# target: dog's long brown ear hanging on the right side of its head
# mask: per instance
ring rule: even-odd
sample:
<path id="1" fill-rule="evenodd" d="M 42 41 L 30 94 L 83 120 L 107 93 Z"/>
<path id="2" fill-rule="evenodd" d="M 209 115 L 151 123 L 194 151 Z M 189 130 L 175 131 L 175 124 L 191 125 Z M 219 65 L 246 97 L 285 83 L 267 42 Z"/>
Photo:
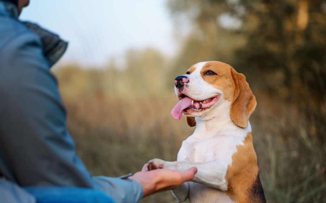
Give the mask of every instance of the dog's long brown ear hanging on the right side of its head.
<path id="1" fill-rule="evenodd" d="M 252 94 L 243 74 L 237 73 L 233 68 L 231 68 L 231 74 L 235 83 L 235 93 L 231 104 L 230 117 L 234 124 L 245 128 L 251 113 L 256 108 L 256 97 Z"/>

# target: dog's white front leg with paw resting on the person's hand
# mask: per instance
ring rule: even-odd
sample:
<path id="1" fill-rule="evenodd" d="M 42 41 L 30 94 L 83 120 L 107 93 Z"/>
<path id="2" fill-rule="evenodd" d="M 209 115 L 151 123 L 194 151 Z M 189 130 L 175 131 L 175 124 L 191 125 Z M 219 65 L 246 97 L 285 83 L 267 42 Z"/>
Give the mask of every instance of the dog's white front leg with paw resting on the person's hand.
<path id="1" fill-rule="evenodd" d="M 191 161 L 164 161 L 162 159 L 152 159 L 149 162 L 149 169 L 171 169 L 175 171 L 186 171 L 191 167 L 197 167 L 196 173 L 192 182 L 209 185 L 211 187 L 226 191 L 228 189 L 225 175 L 228 166 L 221 161 L 208 162 L 191 162 Z"/>

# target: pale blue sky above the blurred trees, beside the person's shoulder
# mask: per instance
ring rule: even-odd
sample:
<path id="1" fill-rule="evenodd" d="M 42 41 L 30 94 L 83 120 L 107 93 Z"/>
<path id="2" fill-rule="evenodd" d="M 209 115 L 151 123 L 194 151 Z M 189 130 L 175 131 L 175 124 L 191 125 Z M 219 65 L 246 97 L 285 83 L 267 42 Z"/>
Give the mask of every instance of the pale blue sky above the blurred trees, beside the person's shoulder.
<path id="1" fill-rule="evenodd" d="M 101 66 L 129 48 L 176 49 L 165 0 L 30 0 L 21 20 L 35 22 L 69 42 L 59 64 Z"/>

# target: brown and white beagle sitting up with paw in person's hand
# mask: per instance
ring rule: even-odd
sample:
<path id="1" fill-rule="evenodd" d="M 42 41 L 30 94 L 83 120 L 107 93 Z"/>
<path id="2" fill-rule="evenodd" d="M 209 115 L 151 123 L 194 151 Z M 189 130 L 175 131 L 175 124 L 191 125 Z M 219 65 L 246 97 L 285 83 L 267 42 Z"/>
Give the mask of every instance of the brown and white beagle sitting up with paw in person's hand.
<path id="1" fill-rule="evenodd" d="M 153 159 L 148 170 L 198 168 L 191 182 L 172 190 L 178 202 L 266 202 L 248 121 L 257 103 L 245 76 L 209 61 L 174 82 L 179 102 L 171 114 L 177 120 L 184 114 L 196 129 L 183 141 L 177 161 Z"/>

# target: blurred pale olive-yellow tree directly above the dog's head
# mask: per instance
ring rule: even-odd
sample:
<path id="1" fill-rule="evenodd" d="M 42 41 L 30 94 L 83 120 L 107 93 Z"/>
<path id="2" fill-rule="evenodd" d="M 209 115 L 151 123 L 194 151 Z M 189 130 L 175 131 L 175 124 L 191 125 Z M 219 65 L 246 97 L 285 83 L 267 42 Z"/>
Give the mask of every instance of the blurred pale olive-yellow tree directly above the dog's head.
<path id="1" fill-rule="evenodd" d="M 221 29 L 219 17 L 227 7 L 225 1 L 168 1 L 176 30 L 184 25 L 191 27 L 188 38 L 179 39 L 184 45 L 176 57 L 171 77 L 185 74 L 187 68 L 199 61 L 220 60 L 230 64 L 234 61 L 234 50 L 244 46 L 245 38 L 234 27 Z"/>

